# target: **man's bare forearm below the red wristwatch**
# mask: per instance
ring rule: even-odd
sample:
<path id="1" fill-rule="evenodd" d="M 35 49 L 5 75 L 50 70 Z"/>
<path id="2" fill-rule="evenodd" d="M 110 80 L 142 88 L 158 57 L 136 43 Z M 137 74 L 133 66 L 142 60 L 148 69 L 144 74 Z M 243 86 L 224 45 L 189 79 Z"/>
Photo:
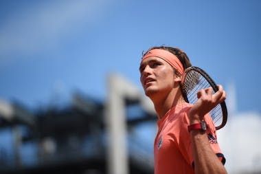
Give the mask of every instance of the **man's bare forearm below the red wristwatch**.
<path id="1" fill-rule="evenodd" d="M 227 171 L 212 151 L 206 133 L 193 130 L 190 133 L 194 153 L 194 170 L 196 174 L 225 174 Z"/>

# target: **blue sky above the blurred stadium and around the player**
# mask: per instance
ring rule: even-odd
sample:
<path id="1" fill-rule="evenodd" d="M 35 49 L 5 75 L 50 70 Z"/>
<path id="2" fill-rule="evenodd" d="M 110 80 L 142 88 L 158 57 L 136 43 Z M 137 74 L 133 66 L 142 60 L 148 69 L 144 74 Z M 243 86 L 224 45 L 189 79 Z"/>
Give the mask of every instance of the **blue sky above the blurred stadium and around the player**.
<path id="1" fill-rule="evenodd" d="M 261 1 L 0 1 L 0 98 L 35 108 L 75 90 L 106 98 L 115 72 L 139 85 L 141 53 L 184 50 L 238 111 L 261 112 Z"/>

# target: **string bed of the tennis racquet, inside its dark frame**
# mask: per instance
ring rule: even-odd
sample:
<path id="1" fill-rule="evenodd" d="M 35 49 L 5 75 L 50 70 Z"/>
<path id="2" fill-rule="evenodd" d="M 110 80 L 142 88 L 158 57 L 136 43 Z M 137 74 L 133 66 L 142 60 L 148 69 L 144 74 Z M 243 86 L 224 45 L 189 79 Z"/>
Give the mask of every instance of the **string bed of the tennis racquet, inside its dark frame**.
<path id="1" fill-rule="evenodd" d="M 185 75 L 183 82 L 183 92 L 185 92 L 188 98 L 188 102 L 194 104 L 198 100 L 197 92 L 208 87 L 212 86 L 199 72 L 196 72 L 192 69 Z M 214 93 L 215 91 L 213 91 L 213 94 Z M 214 107 L 214 109 L 212 109 L 209 114 L 212 117 L 215 127 L 218 127 L 220 124 L 222 124 L 223 111 L 220 105 L 216 105 L 216 107 Z"/>

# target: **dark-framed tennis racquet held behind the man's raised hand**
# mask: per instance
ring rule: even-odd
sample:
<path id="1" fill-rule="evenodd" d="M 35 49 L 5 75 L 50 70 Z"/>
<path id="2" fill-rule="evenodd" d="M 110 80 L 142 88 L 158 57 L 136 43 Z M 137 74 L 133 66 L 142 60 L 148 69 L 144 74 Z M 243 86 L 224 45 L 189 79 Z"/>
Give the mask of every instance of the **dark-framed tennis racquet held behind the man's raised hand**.
<path id="1" fill-rule="evenodd" d="M 213 88 L 213 93 L 218 91 L 214 80 L 203 69 L 199 67 L 188 67 L 185 69 L 185 72 L 182 74 L 181 91 L 186 102 L 194 104 L 198 100 L 197 92 L 208 87 Z M 227 106 L 225 101 L 216 105 L 209 114 L 216 130 L 223 128 L 227 123 Z"/>

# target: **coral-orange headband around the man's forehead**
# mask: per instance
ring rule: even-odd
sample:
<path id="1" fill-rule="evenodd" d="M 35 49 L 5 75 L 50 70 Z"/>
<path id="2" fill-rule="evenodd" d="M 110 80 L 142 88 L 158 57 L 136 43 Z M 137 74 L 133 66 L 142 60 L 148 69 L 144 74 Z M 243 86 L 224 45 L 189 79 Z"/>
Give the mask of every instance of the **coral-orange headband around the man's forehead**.
<path id="1" fill-rule="evenodd" d="M 179 61 L 179 58 L 177 58 L 177 56 L 175 56 L 171 52 L 162 49 L 153 49 L 148 51 L 147 54 L 143 56 L 142 60 L 151 56 L 157 56 L 159 58 L 162 58 L 164 61 L 168 62 L 172 67 L 174 67 L 174 69 L 177 69 L 177 71 L 180 74 L 183 74 L 184 69 L 181 61 Z"/>

